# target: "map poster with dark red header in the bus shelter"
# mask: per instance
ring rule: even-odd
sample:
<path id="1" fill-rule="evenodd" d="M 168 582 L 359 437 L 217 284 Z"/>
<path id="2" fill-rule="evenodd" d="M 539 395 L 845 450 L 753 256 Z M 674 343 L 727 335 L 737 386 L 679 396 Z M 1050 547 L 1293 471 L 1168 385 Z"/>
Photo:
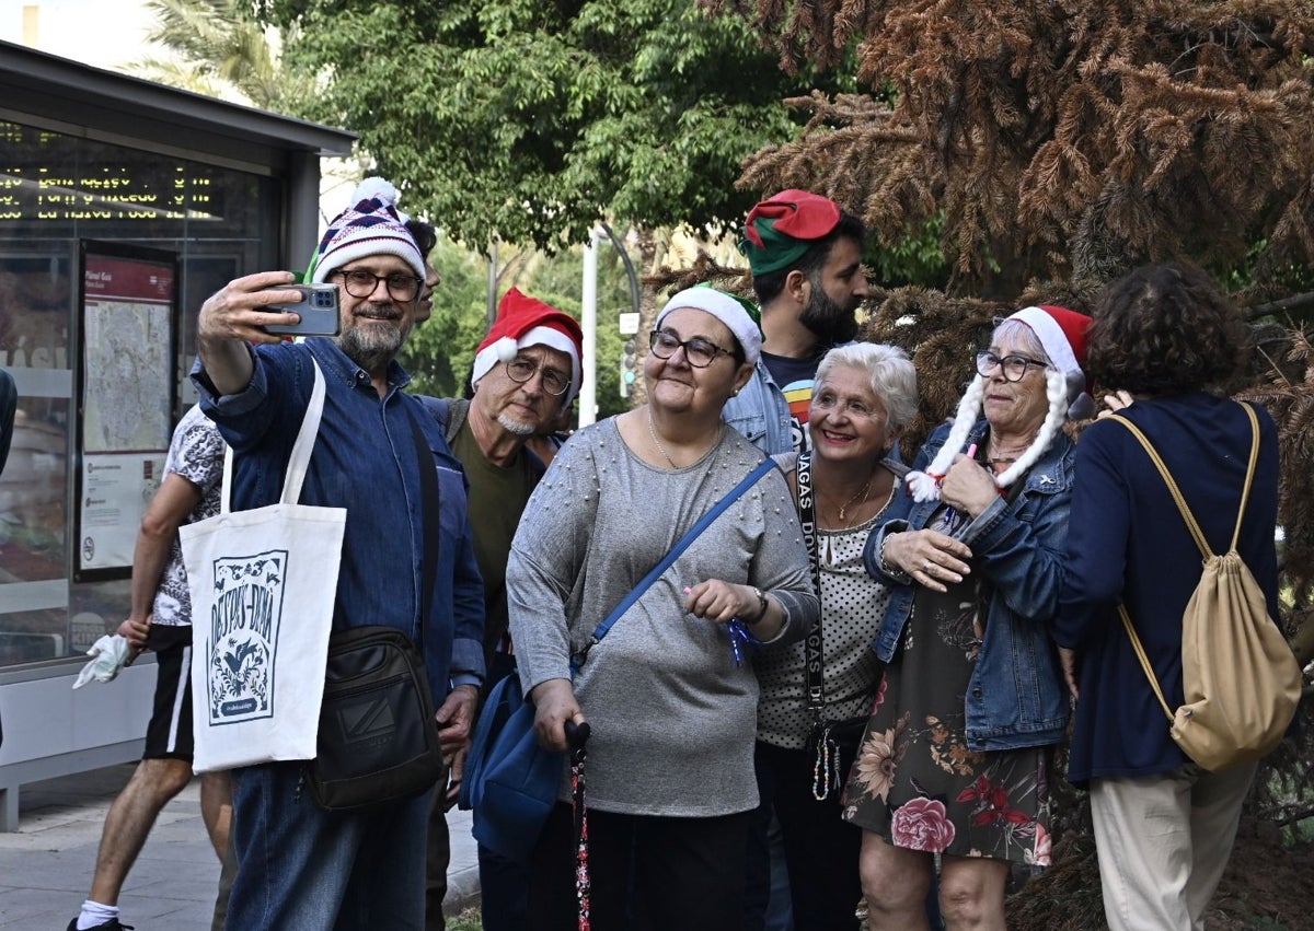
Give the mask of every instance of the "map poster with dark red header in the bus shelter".
<path id="1" fill-rule="evenodd" d="M 177 259 L 83 247 L 75 578 L 130 575 L 142 515 L 164 471 L 177 377 Z"/>

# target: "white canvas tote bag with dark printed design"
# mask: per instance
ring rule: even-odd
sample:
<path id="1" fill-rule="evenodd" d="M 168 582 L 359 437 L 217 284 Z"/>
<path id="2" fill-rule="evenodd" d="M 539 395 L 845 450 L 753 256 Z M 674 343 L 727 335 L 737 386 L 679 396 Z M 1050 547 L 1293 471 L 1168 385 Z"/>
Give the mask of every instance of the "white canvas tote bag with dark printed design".
<path id="1" fill-rule="evenodd" d="M 315 755 L 347 521 L 346 508 L 297 503 L 323 399 L 315 364 L 277 504 L 229 509 L 229 450 L 219 513 L 179 528 L 192 592 L 196 772 Z"/>

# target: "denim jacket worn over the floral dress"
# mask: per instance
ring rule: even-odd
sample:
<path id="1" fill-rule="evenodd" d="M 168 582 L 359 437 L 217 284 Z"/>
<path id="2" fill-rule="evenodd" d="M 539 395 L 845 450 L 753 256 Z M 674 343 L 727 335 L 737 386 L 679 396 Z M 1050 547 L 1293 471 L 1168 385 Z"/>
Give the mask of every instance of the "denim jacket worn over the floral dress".
<path id="1" fill-rule="evenodd" d="M 986 420 L 967 443 L 984 443 Z M 943 425 L 917 454 L 924 470 L 949 436 Z M 1063 433 L 1028 471 L 1017 498 L 1000 498 L 958 532 L 972 549 L 972 573 L 991 586 L 986 634 L 964 696 L 967 746 L 975 751 L 1016 750 L 1063 739 L 1070 713 L 1067 687 L 1050 637 L 1063 580 L 1076 446 Z M 886 534 L 926 527 L 941 502 L 899 494 L 890 519 L 871 533 L 863 553 L 867 571 L 891 583 L 891 600 L 872 645 L 888 662 L 912 615 L 917 586 L 880 569 Z"/>

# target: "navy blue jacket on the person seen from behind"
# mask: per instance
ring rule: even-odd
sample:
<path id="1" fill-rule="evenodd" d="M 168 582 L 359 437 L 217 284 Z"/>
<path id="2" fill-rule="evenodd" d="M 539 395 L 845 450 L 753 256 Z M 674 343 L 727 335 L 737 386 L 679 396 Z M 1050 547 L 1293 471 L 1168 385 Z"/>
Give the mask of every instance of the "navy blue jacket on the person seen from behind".
<path id="1" fill-rule="evenodd" d="M 1260 456 L 1236 550 L 1277 617 L 1277 429 L 1256 410 Z M 1250 457 L 1246 412 L 1206 394 L 1137 401 L 1122 411 L 1168 466 L 1209 546 L 1231 542 Z M 1154 462 L 1126 427 L 1092 424 L 1077 444 L 1063 595 L 1054 636 L 1080 651 L 1068 779 L 1166 772 L 1187 762 L 1137 660 L 1123 601 L 1171 708 L 1183 703 L 1181 615 L 1200 582 L 1200 549 Z"/>

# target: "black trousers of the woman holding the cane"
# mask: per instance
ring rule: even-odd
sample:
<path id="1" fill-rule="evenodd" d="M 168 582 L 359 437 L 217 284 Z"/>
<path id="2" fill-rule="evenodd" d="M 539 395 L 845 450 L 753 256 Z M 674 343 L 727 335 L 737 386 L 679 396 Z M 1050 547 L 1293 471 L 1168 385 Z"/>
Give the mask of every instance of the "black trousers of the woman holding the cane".
<path id="1" fill-rule="evenodd" d="M 666 818 L 590 810 L 593 931 L 738 927 L 752 814 Z M 533 851 L 528 927 L 578 928 L 569 805 L 556 806 Z"/>

